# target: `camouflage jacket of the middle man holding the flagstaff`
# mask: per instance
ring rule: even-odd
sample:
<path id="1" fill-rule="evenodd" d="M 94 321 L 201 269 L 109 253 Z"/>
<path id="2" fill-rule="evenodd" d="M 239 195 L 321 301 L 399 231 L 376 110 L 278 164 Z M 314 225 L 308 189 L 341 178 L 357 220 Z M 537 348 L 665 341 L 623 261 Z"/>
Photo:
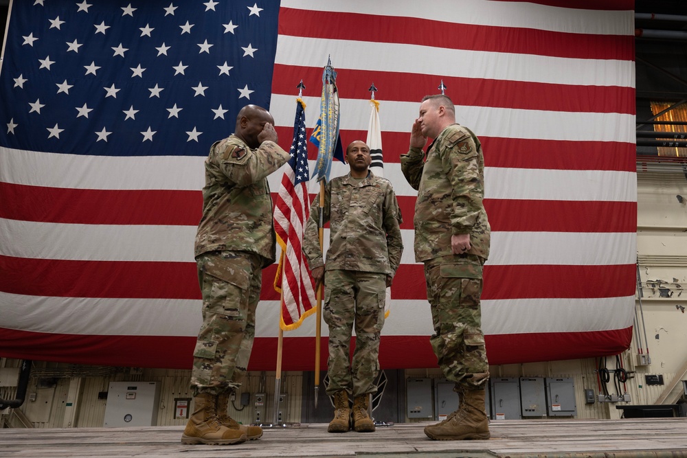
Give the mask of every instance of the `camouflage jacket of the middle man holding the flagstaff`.
<path id="1" fill-rule="evenodd" d="M 305 229 L 303 253 L 311 269 L 324 265 L 318 237 L 319 196 Z M 330 222 L 326 270 L 378 272 L 394 276 L 401 262 L 403 222 L 390 181 L 372 172 L 360 183 L 350 173 L 327 183 L 324 220 Z"/>

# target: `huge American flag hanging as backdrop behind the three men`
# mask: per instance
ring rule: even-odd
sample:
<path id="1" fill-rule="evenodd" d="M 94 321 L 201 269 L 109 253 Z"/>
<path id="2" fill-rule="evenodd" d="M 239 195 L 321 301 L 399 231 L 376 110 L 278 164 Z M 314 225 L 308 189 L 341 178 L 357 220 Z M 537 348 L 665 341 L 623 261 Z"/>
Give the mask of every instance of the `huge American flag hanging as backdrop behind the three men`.
<path id="1" fill-rule="evenodd" d="M 629 346 L 632 1 L 90 2 L 10 3 L 0 73 L 0 356 L 190 367 L 207 150 L 248 103 L 269 107 L 288 150 L 300 80 L 310 135 L 328 58 L 344 145 L 366 137 L 368 88 L 379 89 L 384 174 L 405 220 L 383 367 L 436 361 L 412 249 L 416 193 L 398 156 L 420 98 L 442 80 L 458 122 L 484 145 L 490 362 Z M 346 170 L 335 163 L 332 176 Z M 270 176 L 273 193 L 282 174 Z M 254 370 L 275 367 L 274 272 L 263 275 Z M 314 317 L 285 333 L 283 369 L 313 369 L 314 335 Z"/>

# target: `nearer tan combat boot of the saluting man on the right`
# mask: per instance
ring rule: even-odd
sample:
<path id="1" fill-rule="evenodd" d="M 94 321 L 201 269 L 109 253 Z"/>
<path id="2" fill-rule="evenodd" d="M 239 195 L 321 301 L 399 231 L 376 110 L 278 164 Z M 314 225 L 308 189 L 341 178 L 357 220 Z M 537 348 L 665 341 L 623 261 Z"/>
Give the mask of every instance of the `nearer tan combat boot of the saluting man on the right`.
<path id="1" fill-rule="evenodd" d="M 485 391 L 466 389 L 463 394 L 460 410 L 444 422 L 425 427 L 427 437 L 440 441 L 491 437 L 489 419 L 484 411 Z"/>

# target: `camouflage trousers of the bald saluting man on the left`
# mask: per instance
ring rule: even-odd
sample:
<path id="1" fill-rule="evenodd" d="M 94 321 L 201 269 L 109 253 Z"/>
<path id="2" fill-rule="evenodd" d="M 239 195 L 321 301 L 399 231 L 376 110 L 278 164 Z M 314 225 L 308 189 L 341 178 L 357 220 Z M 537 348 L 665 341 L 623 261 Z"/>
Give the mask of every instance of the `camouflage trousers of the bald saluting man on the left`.
<path id="1" fill-rule="evenodd" d="M 218 395 L 241 385 L 255 338 L 262 257 L 213 251 L 196 257 L 203 325 L 193 352 L 193 395 Z"/>

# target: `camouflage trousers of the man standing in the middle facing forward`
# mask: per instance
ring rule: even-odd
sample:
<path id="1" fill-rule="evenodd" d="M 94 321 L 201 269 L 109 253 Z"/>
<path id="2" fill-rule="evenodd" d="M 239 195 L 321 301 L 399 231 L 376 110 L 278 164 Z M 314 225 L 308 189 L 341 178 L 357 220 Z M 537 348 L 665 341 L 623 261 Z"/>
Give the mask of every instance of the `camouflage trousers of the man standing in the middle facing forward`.
<path id="1" fill-rule="evenodd" d="M 326 271 L 324 322 L 329 326 L 329 385 L 332 396 L 345 389 L 353 396 L 376 393 L 379 338 L 384 326 L 386 274 Z M 350 339 L 355 328 L 355 350 L 350 362 Z"/>

